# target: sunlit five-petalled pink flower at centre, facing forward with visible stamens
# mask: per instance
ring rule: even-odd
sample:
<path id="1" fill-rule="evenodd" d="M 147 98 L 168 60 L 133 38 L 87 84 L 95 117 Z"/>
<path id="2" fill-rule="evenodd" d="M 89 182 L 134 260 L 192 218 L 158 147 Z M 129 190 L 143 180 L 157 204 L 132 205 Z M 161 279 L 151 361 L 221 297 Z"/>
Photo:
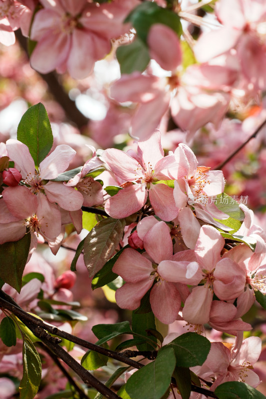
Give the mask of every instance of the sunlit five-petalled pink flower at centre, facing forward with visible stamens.
<path id="1" fill-rule="evenodd" d="M 151 152 L 151 148 L 153 151 Z M 173 155 L 164 157 L 160 133 L 146 141 L 138 142 L 138 154 L 130 156 L 117 149 L 107 149 L 101 158 L 120 179 L 134 184 L 121 189 L 105 203 L 105 211 L 114 218 L 127 217 L 145 205 L 148 193 L 155 214 L 162 220 L 172 220 L 178 214 L 173 189 L 166 184 L 154 184 L 160 180 L 184 176 L 182 167 Z"/>

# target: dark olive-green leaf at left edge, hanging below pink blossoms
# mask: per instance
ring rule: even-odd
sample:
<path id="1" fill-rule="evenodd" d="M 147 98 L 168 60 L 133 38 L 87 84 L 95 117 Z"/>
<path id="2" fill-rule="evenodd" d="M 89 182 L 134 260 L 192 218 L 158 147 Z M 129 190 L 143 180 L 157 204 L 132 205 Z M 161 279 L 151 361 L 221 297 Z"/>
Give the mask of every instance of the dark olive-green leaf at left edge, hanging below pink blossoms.
<path id="1" fill-rule="evenodd" d="M 27 262 L 30 238 L 30 234 L 27 233 L 18 241 L 0 245 L 0 277 L 17 292 L 20 292 L 22 286 L 22 274 Z"/>

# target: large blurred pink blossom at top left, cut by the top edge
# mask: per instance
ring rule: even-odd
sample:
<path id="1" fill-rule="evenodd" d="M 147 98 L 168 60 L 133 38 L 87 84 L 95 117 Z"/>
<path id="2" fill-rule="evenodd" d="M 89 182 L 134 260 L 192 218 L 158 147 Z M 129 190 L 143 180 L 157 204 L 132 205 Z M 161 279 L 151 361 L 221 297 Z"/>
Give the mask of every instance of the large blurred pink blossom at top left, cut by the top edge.
<path id="1" fill-rule="evenodd" d="M 94 62 L 111 50 L 111 38 L 126 33 L 126 15 L 138 1 L 115 0 L 89 3 L 87 0 L 42 0 L 31 27 L 38 43 L 30 57 L 31 66 L 41 73 L 66 70 L 75 79 L 90 74 Z"/>

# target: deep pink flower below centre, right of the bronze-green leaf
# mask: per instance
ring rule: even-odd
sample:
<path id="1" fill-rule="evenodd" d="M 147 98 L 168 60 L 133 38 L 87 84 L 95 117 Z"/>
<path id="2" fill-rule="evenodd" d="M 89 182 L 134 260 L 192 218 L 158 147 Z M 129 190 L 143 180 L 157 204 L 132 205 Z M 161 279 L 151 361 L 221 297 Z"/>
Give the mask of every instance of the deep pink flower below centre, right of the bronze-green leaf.
<path id="1" fill-rule="evenodd" d="M 150 303 L 153 313 L 161 322 L 173 323 L 178 317 L 181 296 L 176 285 L 162 279 L 157 270 L 161 261 L 172 258 L 173 243 L 169 227 L 163 221 L 158 222 L 145 234 L 143 243 L 147 257 L 126 248 L 113 267 L 114 273 L 126 281 L 116 291 L 116 302 L 122 309 L 137 309 L 141 298 L 152 287 Z"/>

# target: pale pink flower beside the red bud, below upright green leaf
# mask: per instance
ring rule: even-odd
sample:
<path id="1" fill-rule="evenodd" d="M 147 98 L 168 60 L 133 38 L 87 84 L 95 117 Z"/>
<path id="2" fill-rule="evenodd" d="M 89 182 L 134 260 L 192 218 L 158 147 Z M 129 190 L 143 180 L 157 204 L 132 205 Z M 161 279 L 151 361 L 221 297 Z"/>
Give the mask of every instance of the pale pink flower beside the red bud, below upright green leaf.
<path id="1" fill-rule="evenodd" d="M 56 202 L 63 209 L 73 211 L 81 208 L 83 197 L 79 192 L 61 182 L 51 181 L 68 168 L 69 162 L 76 154 L 71 147 L 57 146 L 40 162 L 38 170 L 35 169 L 34 161 L 25 144 L 10 139 L 6 142 L 6 150 L 22 176 L 22 184 L 37 198 L 40 198 L 40 194 L 45 194 L 49 202 Z M 46 180 L 50 181 L 46 183 Z"/>

